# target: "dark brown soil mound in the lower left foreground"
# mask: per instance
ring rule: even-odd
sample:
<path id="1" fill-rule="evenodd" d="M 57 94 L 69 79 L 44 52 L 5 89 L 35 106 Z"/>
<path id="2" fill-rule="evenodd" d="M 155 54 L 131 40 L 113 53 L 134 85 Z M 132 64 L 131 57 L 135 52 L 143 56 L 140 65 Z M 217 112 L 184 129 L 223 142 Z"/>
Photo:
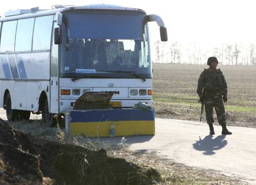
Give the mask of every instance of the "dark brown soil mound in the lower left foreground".
<path id="1" fill-rule="evenodd" d="M 154 184 L 160 175 L 101 149 L 16 131 L 0 119 L 0 184 Z"/>

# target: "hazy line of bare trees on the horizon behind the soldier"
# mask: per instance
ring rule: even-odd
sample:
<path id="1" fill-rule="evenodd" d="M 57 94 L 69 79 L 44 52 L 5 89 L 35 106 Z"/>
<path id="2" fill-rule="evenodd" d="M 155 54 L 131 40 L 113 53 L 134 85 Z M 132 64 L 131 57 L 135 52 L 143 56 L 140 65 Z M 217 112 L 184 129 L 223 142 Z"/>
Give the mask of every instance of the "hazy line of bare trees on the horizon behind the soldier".
<path id="1" fill-rule="evenodd" d="M 175 42 L 155 42 L 154 63 L 206 64 L 208 57 L 217 57 L 223 65 L 255 65 L 256 45 L 221 44 L 210 50 L 204 50 L 196 44 L 185 47 Z"/>

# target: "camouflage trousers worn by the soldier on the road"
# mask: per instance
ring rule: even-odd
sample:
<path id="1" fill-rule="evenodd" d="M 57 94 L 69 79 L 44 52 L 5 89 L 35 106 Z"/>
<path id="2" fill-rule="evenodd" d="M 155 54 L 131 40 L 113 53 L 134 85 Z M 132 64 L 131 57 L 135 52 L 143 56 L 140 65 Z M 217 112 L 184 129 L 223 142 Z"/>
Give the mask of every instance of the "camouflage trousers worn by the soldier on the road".
<path id="1" fill-rule="evenodd" d="M 216 111 L 217 119 L 220 125 L 226 124 L 225 107 L 222 97 L 219 96 L 206 96 L 205 97 L 205 114 L 207 124 L 213 124 L 213 108 Z"/>

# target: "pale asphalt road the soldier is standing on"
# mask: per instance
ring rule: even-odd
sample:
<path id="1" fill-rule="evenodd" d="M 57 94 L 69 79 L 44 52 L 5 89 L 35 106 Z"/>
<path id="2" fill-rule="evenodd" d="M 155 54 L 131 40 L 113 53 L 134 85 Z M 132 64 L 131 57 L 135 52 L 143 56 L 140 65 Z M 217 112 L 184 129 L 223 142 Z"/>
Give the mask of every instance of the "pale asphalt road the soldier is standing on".
<path id="1" fill-rule="evenodd" d="M 6 120 L 0 109 L 0 118 Z M 35 118 L 35 117 L 32 117 Z M 256 184 L 256 129 L 230 126 L 232 135 L 222 135 L 221 127 L 214 126 L 216 134 L 209 135 L 205 123 L 156 119 L 155 135 L 125 137 L 125 144 L 136 152 L 154 152 L 191 167 L 222 171 Z M 121 137 L 101 138 L 112 144 Z"/>

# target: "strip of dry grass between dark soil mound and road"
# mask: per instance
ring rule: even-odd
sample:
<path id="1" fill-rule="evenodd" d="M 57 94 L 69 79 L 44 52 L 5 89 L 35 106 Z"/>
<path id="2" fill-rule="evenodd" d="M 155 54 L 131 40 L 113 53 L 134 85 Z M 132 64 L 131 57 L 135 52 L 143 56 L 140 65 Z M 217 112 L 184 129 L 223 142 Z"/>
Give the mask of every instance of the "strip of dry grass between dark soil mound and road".
<path id="1" fill-rule="evenodd" d="M 70 137 L 59 126 L 48 128 L 40 121 L 10 122 L 9 124 L 15 129 L 40 138 L 79 145 L 95 151 L 105 149 L 110 157 L 126 159 L 126 161 L 135 163 L 144 170 L 155 169 L 161 174 L 160 177 L 155 179 L 156 184 L 247 184 L 238 178 L 225 176 L 219 171 L 188 167 L 170 159 L 160 158 L 153 152 L 129 151 L 125 138 L 122 138 L 121 143 L 116 145 L 108 142 L 103 143 L 99 138 L 87 138 L 85 135 Z M 142 174 L 145 174 L 145 172 L 142 171 Z"/>

